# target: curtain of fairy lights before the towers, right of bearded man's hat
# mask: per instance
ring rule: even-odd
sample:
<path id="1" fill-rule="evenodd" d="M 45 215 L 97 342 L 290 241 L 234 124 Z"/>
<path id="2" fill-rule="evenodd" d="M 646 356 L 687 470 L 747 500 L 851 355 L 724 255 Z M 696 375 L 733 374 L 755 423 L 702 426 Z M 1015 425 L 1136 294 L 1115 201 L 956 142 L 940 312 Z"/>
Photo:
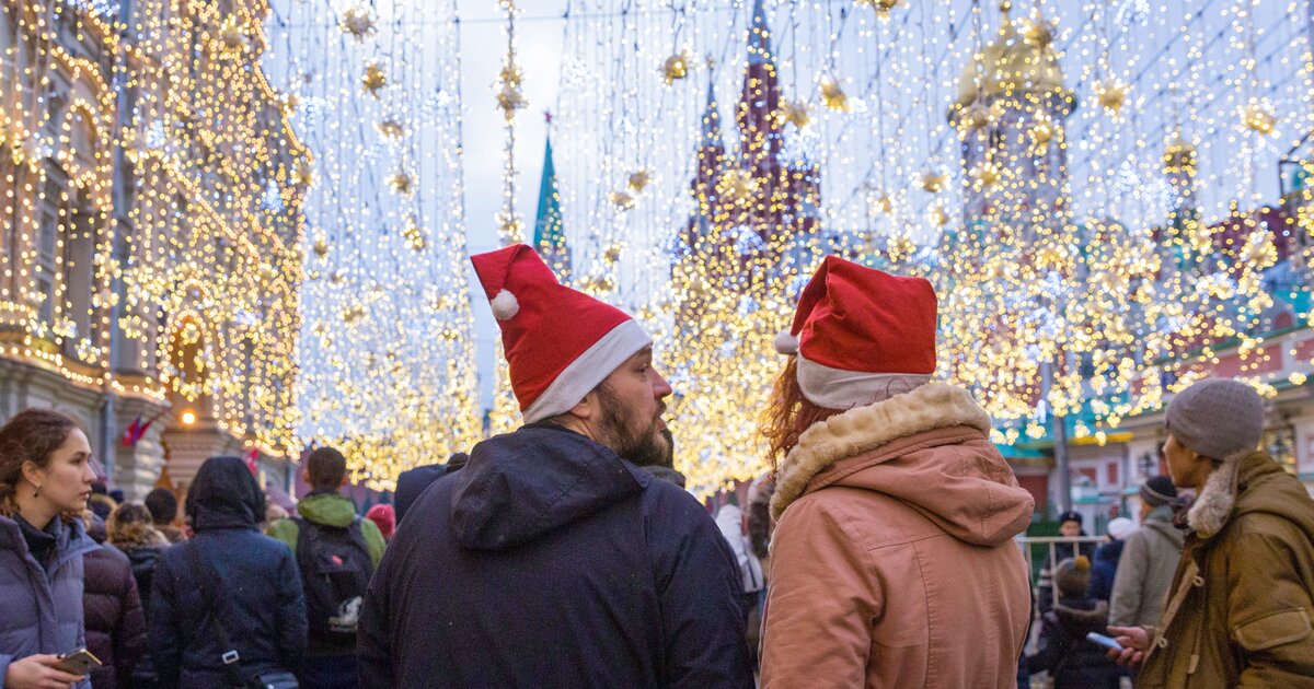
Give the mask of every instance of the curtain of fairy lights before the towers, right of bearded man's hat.
<path id="1" fill-rule="evenodd" d="M 999 442 L 1053 415 L 1099 440 L 1188 385 L 1210 343 L 1261 353 L 1284 307 L 1275 240 L 1303 238 L 1307 210 L 1256 211 L 1310 130 L 1298 3 L 607 9 L 570 8 L 587 18 L 569 20 L 555 125 L 564 224 L 585 289 L 658 335 L 691 484 L 761 469 L 770 336 L 827 252 L 936 282 L 941 373 Z M 742 94 L 754 13 L 775 96 Z M 723 154 L 700 146 L 712 115 Z M 635 194 L 640 168 L 654 184 Z"/>

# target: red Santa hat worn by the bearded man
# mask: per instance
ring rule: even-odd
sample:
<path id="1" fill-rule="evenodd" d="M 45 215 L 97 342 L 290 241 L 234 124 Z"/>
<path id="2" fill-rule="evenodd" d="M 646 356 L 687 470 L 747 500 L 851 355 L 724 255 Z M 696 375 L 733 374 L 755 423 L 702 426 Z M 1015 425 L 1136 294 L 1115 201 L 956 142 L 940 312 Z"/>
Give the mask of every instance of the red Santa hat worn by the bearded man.
<path id="1" fill-rule="evenodd" d="M 570 411 L 652 339 L 624 311 L 557 282 L 524 244 L 470 256 L 524 423 Z"/>

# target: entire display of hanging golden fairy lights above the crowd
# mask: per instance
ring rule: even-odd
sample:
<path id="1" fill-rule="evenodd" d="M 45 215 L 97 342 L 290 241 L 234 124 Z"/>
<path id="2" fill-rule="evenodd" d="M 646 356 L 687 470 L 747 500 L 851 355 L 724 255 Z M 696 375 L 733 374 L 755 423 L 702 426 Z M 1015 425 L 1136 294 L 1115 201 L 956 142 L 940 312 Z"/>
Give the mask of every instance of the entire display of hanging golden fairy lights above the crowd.
<path id="1" fill-rule="evenodd" d="M 473 96 L 455 0 L 138 0 L 129 26 L 109 1 L 4 5 L 0 329 L 21 336 L 0 346 L 210 406 L 272 453 L 340 445 L 377 488 L 469 449 L 466 222 L 526 240 L 537 188 L 515 142 L 541 17 L 490 4 L 506 42 Z M 1281 383 L 1263 333 L 1309 316 L 1307 3 L 568 0 L 558 21 L 561 71 L 532 76 L 557 83 L 570 280 L 653 332 L 695 490 L 761 470 L 770 341 L 830 252 L 934 281 L 941 374 L 999 442 L 1054 415 L 1099 438 L 1219 343 Z M 466 108 L 505 127 L 493 218 L 466 218 Z M 112 312 L 141 375 L 105 373 Z M 498 432 L 519 415 L 494 378 Z"/>

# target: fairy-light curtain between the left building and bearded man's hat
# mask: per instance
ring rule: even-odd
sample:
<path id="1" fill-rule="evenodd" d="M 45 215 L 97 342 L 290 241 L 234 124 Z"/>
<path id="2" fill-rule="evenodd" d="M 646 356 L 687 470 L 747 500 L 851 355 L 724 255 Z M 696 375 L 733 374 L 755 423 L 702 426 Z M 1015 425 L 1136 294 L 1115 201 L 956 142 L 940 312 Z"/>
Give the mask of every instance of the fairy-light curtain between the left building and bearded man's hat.
<path id="1" fill-rule="evenodd" d="M 482 432 L 455 20 L 455 3 L 272 4 L 265 64 L 315 154 L 298 430 L 372 488 Z"/>

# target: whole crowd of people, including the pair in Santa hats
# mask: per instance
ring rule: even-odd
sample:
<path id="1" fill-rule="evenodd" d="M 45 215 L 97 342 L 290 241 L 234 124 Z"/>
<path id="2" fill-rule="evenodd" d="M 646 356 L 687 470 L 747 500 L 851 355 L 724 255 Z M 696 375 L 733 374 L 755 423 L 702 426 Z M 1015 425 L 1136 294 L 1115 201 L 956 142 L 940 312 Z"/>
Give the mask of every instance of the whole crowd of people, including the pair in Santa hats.
<path id="1" fill-rule="evenodd" d="M 99 487 L 57 411 L 0 428 L 4 689 L 1314 686 L 1314 501 L 1256 450 L 1250 386 L 1175 395 L 1137 520 L 1033 587 L 1033 499 L 933 377 L 926 281 L 821 264 L 775 339 L 770 471 L 710 514 L 639 323 L 527 247 L 473 262 L 524 425 L 365 516 L 332 448 L 294 514 L 235 457 L 179 514 Z"/>

